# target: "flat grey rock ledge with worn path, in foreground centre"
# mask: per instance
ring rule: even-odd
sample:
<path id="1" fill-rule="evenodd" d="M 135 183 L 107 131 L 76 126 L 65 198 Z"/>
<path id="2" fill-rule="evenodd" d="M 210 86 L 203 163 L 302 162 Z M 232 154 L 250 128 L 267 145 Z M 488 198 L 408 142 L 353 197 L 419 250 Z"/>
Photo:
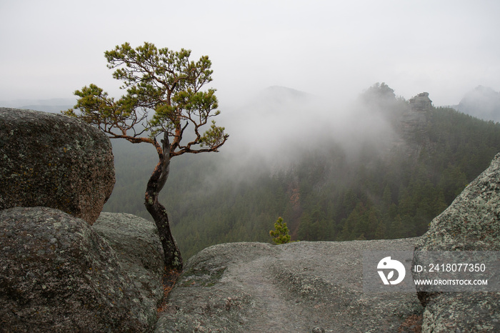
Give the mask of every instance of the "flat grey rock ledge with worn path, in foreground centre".
<path id="1" fill-rule="evenodd" d="M 365 294 L 362 257 L 412 251 L 415 242 L 209 247 L 187 262 L 155 332 L 414 332 L 409 322 L 423 311 L 416 294 Z"/>

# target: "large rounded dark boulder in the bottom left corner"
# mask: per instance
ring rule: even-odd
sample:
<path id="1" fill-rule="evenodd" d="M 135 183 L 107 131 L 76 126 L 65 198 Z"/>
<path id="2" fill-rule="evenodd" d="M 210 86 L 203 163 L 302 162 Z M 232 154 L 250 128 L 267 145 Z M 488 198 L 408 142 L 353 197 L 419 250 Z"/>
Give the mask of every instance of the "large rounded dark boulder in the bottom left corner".
<path id="1" fill-rule="evenodd" d="M 4 209 L 0 247 L 2 332 L 145 332 L 156 322 L 114 250 L 82 219 Z"/>

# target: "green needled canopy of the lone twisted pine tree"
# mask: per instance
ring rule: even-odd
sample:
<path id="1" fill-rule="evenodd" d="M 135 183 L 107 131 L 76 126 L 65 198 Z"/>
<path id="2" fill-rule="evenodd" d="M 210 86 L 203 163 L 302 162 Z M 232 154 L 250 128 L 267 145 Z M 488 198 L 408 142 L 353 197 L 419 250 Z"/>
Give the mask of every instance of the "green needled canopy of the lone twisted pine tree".
<path id="1" fill-rule="evenodd" d="M 154 137 L 165 133 L 171 138 L 171 156 L 217 151 L 228 138 L 224 127 L 209 119 L 220 113 L 215 89 L 201 88 L 212 81 L 211 61 L 201 56 L 189 61 L 191 51 L 158 49 L 144 43 L 132 49 L 129 43 L 104 53 L 115 79 L 123 81 L 126 94 L 115 100 L 95 84 L 74 92 L 79 99 L 74 109 L 64 113 L 78 116 L 99 127 L 111 138 L 132 143 L 154 144 Z M 149 114 L 153 111 L 152 116 Z M 183 142 L 191 125 L 194 137 Z"/>

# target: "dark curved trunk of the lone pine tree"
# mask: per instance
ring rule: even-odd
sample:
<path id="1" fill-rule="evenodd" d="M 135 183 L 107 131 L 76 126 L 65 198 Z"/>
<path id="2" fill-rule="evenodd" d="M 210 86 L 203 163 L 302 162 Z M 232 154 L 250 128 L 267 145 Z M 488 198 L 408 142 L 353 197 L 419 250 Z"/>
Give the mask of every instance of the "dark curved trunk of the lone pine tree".
<path id="1" fill-rule="evenodd" d="M 146 187 L 146 196 L 144 205 L 148 210 L 160 234 L 161 246 L 165 254 L 165 266 L 167 269 L 182 269 L 182 257 L 179 247 L 170 232 L 169 217 L 166 214 L 165 207 L 158 202 L 158 196 L 164 187 L 166 179 L 169 177 L 170 169 L 170 142 L 166 132 L 164 139 L 161 140 L 162 146 L 155 140 L 154 145 L 158 151 L 159 162 L 154 168 L 153 174 L 149 178 Z"/>

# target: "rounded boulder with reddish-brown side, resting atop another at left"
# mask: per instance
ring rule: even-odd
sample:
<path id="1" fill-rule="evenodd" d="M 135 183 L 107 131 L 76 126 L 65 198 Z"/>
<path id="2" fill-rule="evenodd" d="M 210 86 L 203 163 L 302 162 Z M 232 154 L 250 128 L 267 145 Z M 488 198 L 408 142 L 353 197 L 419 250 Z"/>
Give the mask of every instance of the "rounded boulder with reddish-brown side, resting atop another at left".
<path id="1" fill-rule="evenodd" d="M 0 108 L 0 209 L 52 207 L 93 224 L 114 187 L 108 137 L 78 119 Z"/>

